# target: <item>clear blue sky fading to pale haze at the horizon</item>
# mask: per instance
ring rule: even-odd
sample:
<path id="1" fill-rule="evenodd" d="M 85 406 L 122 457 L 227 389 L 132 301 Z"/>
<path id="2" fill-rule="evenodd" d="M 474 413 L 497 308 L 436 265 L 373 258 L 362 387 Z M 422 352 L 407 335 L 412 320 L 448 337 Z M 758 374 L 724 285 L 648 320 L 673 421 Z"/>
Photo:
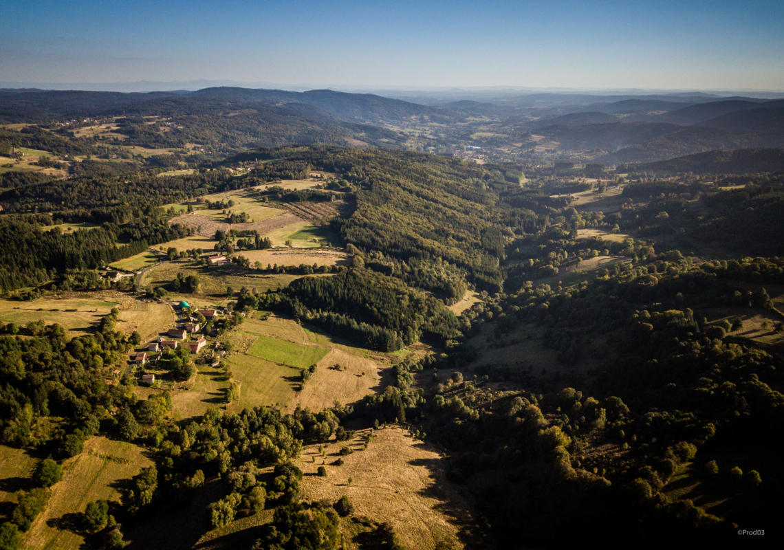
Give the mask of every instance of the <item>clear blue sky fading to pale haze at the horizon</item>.
<path id="1" fill-rule="evenodd" d="M 784 91 L 784 2 L 0 0 L 0 81 Z"/>

